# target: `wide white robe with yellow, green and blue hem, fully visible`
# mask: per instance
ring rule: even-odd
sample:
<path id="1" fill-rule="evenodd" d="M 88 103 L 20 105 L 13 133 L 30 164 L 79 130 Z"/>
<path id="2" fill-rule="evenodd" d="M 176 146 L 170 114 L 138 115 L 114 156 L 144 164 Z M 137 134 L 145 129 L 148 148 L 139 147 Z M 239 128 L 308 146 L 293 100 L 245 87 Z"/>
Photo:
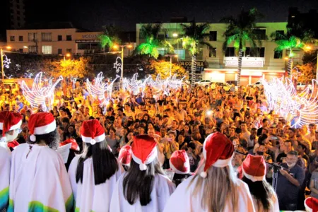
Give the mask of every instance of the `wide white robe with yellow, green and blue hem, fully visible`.
<path id="1" fill-rule="evenodd" d="M 23 143 L 13 151 L 11 162 L 8 211 L 71 211 L 71 184 L 59 153 Z"/>

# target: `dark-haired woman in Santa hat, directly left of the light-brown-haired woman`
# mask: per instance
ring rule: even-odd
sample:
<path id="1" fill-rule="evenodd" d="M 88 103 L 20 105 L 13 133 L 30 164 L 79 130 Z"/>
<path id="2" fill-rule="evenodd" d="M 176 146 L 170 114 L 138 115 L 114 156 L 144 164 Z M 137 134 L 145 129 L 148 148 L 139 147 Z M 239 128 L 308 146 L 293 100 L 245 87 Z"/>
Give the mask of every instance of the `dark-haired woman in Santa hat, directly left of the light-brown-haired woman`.
<path id="1" fill-rule="evenodd" d="M 110 211 L 163 211 L 175 186 L 168 179 L 157 157 L 153 137 L 134 137 L 129 170 L 119 178 L 112 194 Z"/>

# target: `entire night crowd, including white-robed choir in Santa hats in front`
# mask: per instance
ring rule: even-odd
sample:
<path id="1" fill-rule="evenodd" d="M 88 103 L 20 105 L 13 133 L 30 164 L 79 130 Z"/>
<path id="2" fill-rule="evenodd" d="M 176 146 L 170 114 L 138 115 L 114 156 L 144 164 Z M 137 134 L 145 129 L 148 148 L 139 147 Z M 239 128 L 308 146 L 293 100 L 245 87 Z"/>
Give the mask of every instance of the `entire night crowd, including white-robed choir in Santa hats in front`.
<path id="1" fill-rule="evenodd" d="M 49 112 L 32 110 L 20 89 L 0 90 L 0 211 L 317 206 L 317 126 L 293 128 L 261 86 L 147 87 L 98 100 L 78 81 L 62 83 Z M 56 150 L 68 143 L 64 163 Z"/>

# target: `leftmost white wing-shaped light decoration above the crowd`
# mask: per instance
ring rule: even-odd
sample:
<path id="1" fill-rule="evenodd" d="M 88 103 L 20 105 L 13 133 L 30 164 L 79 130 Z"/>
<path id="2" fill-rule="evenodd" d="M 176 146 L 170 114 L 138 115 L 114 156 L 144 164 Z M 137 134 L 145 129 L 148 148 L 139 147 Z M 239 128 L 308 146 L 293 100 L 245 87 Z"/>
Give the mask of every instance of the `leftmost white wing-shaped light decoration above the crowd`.
<path id="1" fill-rule="evenodd" d="M 62 76 L 57 78 L 54 84 L 52 84 L 52 78 L 48 80 L 47 86 L 45 86 L 42 81 L 42 72 L 37 73 L 34 78 L 32 90 L 28 88 L 25 81 L 22 81 L 21 88 L 23 90 L 23 96 L 25 100 L 30 103 L 30 106 L 33 110 L 36 110 L 39 105 L 42 105 L 42 110 L 48 112 L 52 110 L 52 105 L 54 102 L 54 90 L 57 84 L 63 80 Z"/>

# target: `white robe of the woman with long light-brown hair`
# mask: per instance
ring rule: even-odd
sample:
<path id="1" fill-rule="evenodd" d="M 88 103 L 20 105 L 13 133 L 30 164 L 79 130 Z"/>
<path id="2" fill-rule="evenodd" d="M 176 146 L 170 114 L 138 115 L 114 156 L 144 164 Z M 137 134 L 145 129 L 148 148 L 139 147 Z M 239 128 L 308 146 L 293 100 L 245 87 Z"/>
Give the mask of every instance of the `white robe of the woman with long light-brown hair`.
<path id="1" fill-rule="evenodd" d="M 175 192 L 170 196 L 169 201 L 167 201 L 165 212 L 208 211 L 208 206 L 206 206 L 205 209 L 201 206 L 201 199 L 204 198 L 204 196 L 202 196 L 202 193 L 197 194 L 197 196 L 193 196 L 194 187 L 197 179 L 194 179 L 194 182 L 192 182 L 191 186 L 188 188 L 193 177 L 194 176 L 191 176 L 184 182 L 179 184 Z M 247 184 L 245 184 L 245 182 L 242 182 L 242 180 L 237 180 L 237 212 L 254 212 L 253 199 L 251 194 L 249 193 L 249 187 L 247 186 Z M 224 212 L 233 211 L 231 206 L 232 204 L 230 202 L 225 202 Z"/>

